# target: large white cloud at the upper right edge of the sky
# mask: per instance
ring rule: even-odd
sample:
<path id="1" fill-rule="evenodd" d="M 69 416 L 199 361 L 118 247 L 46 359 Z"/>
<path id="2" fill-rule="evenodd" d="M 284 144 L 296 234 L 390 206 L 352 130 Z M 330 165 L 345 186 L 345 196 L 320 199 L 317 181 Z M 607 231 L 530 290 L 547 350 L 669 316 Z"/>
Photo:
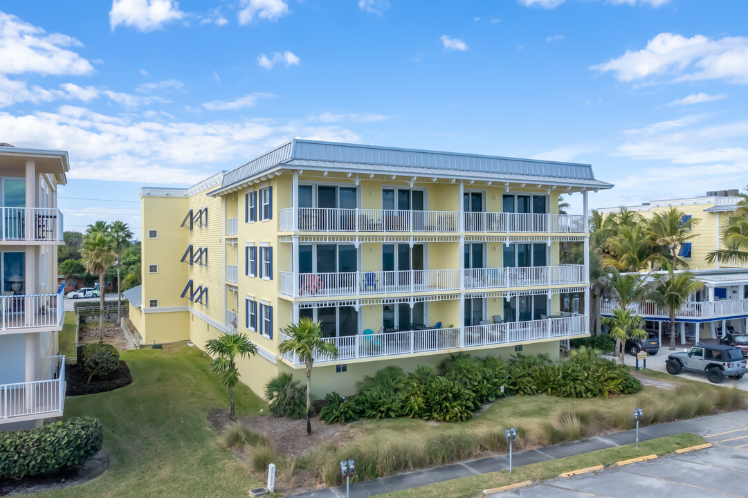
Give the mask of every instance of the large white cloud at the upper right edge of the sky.
<path id="1" fill-rule="evenodd" d="M 748 38 L 709 40 L 697 34 L 660 33 L 646 48 L 590 67 L 601 73 L 612 71 L 621 82 L 667 76 L 675 81 L 726 79 L 748 83 Z"/>

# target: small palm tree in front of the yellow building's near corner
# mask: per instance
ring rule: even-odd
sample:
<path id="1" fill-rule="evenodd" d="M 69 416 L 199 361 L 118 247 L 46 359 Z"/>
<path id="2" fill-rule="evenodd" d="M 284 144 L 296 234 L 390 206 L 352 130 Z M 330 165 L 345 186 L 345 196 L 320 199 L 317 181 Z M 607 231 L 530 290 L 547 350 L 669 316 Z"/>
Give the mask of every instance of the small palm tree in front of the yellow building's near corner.
<path id="1" fill-rule="evenodd" d="M 278 352 L 281 354 L 294 353 L 304 361 L 307 366 L 307 436 L 312 433 L 312 422 L 309 417 L 311 410 L 312 392 L 312 363 L 318 354 L 327 354 L 337 358 L 337 346 L 332 342 L 322 339 L 322 326 L 320 322 L 312 319 L 299 319 L 298 324 L 290 323 L 286 326 L 289 339 L 281 342 Z"/>

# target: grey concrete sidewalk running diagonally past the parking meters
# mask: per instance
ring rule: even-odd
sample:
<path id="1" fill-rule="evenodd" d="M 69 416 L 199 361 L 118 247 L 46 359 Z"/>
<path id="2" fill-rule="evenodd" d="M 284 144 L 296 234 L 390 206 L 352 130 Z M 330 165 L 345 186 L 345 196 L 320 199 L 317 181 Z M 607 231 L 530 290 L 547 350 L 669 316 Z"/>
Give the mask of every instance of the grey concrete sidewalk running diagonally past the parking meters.
<path id="1" fill-rule="evenodd" d="M 729 414 L 702 416 L 697 419 L 667 422 L 640 428 L 639 440 L 646 441 L 656 437 L 680 434 L 681 432 L 692 432 L 693 434 L 708 437 L 709 434 L 723 434 L 729 431 L 746 430 L 747 425 L 748 411 L 736 411 Z M 571 443 L 546 446 L 540 449 L 528 449 L 524 452 L 515 453 L 512 457 L 512 465 L 519 467 L 521 465 L 535 464 L 539 461 L 581 455 L 582 453 L 594 452 L 598 449 L 613 448 L 614 446 L 634 443 L 634 439 L 634 431 L 623 431 L 605 436 L 590 437 Z M 414 472 L 399 474 L 398 476 L 382 477 L 374 481 L 355 482 L 351 485 L 351 497 L 373 497 L 376 494 L 391 493 L 392 491 L 417 488 L 418 486 L 449 481 L 450 479 L 457 479 L 459 477 L 507 469 L 509 469 L 509 455 L 494 455 L 488 458 L 481 458 L 480 460 L 464 461 L 445 467 L 416 470 Z M 346 496 L 346 486 L 322 488 L 317 491 L 309 491 L 292 496 L 295 498 L 343 498 Z"/>

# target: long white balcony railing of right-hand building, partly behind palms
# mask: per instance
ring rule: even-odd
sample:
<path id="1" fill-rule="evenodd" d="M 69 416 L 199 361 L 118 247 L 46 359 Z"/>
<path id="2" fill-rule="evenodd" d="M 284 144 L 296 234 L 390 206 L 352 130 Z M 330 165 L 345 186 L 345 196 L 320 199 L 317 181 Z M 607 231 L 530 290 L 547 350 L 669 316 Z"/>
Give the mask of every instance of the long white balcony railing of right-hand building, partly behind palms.
<path id="1" fill-rule="evenodd" d="M 600 313 L 610 315 L 618 307 L 616 301 L 601 301 Z M 669 319 L 669 312 L 650 301 L 634 304 L 633 310 L 637 315 L 646 318 Z M 688 302 L 678 313 L 675 319 L 730 319 L 733 317 L 748 316 L 748 299 L 720 299 L 720 301 Z"/>

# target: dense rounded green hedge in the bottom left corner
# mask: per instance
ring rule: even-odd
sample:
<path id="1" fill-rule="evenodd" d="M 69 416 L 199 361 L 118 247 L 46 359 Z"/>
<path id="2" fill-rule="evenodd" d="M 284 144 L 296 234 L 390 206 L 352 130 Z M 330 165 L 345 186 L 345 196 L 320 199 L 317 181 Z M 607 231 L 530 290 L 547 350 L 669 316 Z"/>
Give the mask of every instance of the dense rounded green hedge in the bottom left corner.
<path id="1" fill-rule="evenodd" d="M 0 432 L 0 481 L 79 467 L 101 449 L 104 428 L 90 416 Z"/>

